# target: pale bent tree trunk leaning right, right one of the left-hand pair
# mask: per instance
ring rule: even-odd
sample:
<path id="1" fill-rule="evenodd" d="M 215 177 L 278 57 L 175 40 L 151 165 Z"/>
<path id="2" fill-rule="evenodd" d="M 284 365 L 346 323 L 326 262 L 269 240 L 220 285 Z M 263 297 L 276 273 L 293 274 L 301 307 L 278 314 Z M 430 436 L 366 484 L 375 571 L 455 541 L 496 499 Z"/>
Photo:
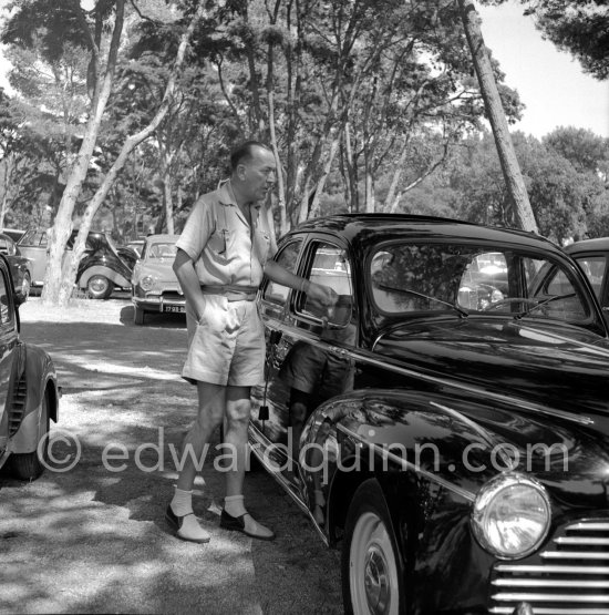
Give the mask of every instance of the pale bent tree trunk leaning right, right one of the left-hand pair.
<path id="1" fill-rule="evenodd" d="M 196 13 L 194 14 L 190 23 L 188 24 L 188 28 L 182 34 L 182 39 L 179 41 L 179 47 L 176 54 L 176 61 L 169 73 L 167 85 L 165 88 L 165 93 L 163 95 L 163 102 L 161 103 L 161 106 L 156 112 L 156 115 L 153 117 L 153 120 L 147 126 L 145 126 L 138 133 L 132 136 L 128 136 L 125 140 L 125 143 L 123 144 L 123 147 L 121 148 L 121 152 L 117 158 L 114 161 L 114 164 L 111 166 L 102 184 L 97 188 L 97 192 L 93 195 L 93 197 L 89 202 L 89 205 L 86 206 L 86 209 L 82 217 L 79 235 L 74 243 L 74 248 L 70 254 L 70 256 L 66 258 L 68 264 L 64 273 L 64 278 L 63 278 L 64 281 L 62 284 L 62 288 L 68 288 L 68 287 L 72 288 L 76 279 L 76 270 L 78 270 L 79 262 L 81 259 L 81 256 L 84 253 L 86 236 L 89 234 L 89 229 L 91 228 L 91 223 L 93 222 L 93 218 L 97 213 L 97 209 L 104 202 L 110 188 L 114 184 L 116 176 L 125 165 L 130 154 L 133 152 L 133 150 L 135 150 L 135 147 L 137 147 L 137 145 L 140 145 L 140 143 L 148 139 L 154 133 L 154 131 L 158 127 L 158 125 L 167 114 L 169 110 L 169 104 L 174 94 L 174 90 L 175 90 L 177 73 L 182 68 L 182 64 L 184 63 L 184 55 L 186 53 L 186 48 L 188 47 L 190 37 L 195 29 L 195 24 L 200 19 L 200 17 L 203 17 L 203 14 L 204 14 L 204 8 L 203 8 L 203 4 L 199 4 Z M 69 297 L 70 295 L 68 295 L 62 299 L 64 301 L 68 301 Z"/>

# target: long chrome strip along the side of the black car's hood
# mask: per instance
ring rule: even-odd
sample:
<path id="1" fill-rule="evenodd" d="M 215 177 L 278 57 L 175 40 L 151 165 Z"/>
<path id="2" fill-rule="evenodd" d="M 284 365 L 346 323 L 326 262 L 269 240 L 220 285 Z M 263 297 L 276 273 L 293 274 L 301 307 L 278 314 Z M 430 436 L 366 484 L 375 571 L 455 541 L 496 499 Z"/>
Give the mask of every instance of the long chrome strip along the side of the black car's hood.
<path id="1" fill-rule="evenodd" d="M 291 331 L 290 331 L 290 335 L 291 335 Z M 378 340 L 374 341 L 373 348 L 376 345 L 376 341 Z M 518 406 L 523 410 L 529 410 L 531 412 L 540 412 L 543 414 L 549 414 L 550 417 L 565 419 L 567 421 L 571 421 L 579 424 L 585 424 L 585 426 L 595 424 L 593 419 L 591 419 L 590 417 L 575 414 L 572 412 L 566 412 L 564 410 L 556 410 L 554 408 L 546 408 L 545 406 L 533 403 L 530 401 L 524 401 L 522 399 L 515 399 L 509 396 L 497 393 L 495 391 L 475 387 L 473 385 L 464 385 L 463 382 L 457 382 L 455 380 L 446 380 L 445 378 L 440 378 L 437 376 L 430 376 L 429 373 L 422 373 L 419 371 L 414 371 L 412 369 L 407 369 L 405 367 L 394 366 L 388 362 L 383 362 L 381 361 L 381 359 L 378 359 L 378 358 L 367 357 L 358 351 L 353 351 L 352 356 L 357 361 L 367 362 L 375 367 L 380 367 L 382 369 L 393 371 L 395 373 L 401 373 L 402 376 L 415 377 L 420 380 L 425 380 L 427 382 L 434 382 L 434 383 L 443 385 L 445 387 L 452 387 L 454 389 L 475 392 L 482 396 L 483 399 L 489 399 L 494 401 L 509 403 L 512 406 Z"/>

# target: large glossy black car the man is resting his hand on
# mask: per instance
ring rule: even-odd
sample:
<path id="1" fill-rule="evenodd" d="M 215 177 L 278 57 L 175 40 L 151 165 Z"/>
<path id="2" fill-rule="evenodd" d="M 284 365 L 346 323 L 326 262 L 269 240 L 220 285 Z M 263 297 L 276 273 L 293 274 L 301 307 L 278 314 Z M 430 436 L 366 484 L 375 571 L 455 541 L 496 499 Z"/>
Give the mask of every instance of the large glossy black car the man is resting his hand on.
<path id="1" fill-rule="evenodd" d="M 491 255 L 502 297 L 472 300 Z M 309 221 L 275 258 L 339 300 L 264 281 L 249 443 L 341 545 L 345 612 L 608 614 L 609 339 L 575 262 L 380 214 Z"/>

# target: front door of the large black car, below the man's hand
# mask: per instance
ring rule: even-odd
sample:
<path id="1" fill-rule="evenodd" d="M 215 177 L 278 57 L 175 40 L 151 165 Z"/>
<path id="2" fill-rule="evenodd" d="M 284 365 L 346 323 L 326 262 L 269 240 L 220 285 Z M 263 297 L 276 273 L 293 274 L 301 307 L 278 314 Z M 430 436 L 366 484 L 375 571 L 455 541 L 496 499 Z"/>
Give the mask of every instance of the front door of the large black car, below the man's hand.
<path id="1" fill-rule="evenodd" d="M 303 249 L 298 274 L 330 286 L 339 295 L 331 309 L 306 294 L 290 291 L 279 321 L 267 318 L 268 367 L 264 433 L 271 443 L 269 458 L 293 491 L 301 486 L 300 440 L 313 410 L 323 401 L 351 390 L 355 342 L 353 283 L 348 250 L 338 240 L 313 238 Z M 268 300 L 268 286 L 262 309 Z M 267 308 L 268 309 L 268 308 Z"/>

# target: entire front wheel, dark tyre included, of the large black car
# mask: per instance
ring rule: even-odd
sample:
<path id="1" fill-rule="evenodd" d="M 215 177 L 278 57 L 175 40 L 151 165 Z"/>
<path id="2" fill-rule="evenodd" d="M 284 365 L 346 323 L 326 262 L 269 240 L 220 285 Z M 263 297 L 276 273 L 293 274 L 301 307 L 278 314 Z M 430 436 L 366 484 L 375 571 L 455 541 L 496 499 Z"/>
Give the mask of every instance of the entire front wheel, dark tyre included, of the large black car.
<path id="1" fill-rule="evenodd" d="M 404 564 L 378 481 L 364 481 L 347 513 L 341 554 L 344 612 L 404 615 Z"/>

